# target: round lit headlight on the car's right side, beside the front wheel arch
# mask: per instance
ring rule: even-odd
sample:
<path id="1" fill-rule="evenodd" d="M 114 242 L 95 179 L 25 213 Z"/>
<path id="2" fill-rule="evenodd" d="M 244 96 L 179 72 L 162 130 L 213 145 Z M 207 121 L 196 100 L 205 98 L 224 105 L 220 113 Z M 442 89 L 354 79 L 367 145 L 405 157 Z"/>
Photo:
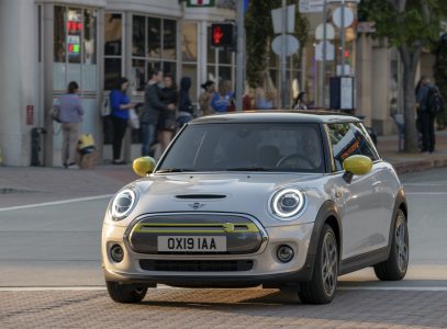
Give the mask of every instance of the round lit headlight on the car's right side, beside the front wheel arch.
<path id="1" fill-rule="evenodd" d="M 304 194 L 298 189 L 283 189 L 271 198 L 271 211 L 280 219 L 291 219 L 304 207 Z"/>

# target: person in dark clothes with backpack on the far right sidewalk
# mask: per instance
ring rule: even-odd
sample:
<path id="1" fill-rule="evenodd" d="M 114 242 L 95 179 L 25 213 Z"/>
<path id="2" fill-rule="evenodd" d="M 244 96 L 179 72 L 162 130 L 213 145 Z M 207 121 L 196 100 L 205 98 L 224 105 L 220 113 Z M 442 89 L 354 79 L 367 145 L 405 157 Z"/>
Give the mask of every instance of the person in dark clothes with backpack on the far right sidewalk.
<path id="1" fill-rule="evenodd" d="M 433 84 L 428 77 L 422 77 L 416 92 L 418 104 L 418 122 L 422 134 L 421 152 L 435 151 L 435 116 L 444 111 L 444 100 L 439 89 Z"/>

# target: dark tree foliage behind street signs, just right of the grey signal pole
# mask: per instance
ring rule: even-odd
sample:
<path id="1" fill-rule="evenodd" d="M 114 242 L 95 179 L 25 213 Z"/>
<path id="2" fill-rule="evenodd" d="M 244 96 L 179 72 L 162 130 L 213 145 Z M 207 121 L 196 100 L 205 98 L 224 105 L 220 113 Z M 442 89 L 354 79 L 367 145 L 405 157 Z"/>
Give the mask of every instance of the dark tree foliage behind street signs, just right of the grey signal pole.
<path id="1" fill-rule="evenodd" d="M 288 4 L 297 1 L 288 0 Z M 298 3 L 294 36 L 300 42 L 300 54 L 309 38 L 309 21 L 300 14 Z M 247 80 L 250 87 L 256 87 L 269 63 L 269 45 L 273 38 L 273 26 L 270 11 L 281 7 L 281 0 L 250 0 L 245 15 Z M 301 58 L 301 56 L 300 56 Z"/>

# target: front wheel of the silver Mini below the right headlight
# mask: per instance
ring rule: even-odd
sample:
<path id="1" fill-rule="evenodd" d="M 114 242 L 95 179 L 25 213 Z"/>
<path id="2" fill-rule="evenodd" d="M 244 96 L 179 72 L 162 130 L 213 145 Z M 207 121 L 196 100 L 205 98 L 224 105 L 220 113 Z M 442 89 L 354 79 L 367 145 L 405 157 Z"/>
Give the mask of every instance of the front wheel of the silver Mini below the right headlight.
<path id="1" fill-rule="evenodd" d="M 334 299 L 338 276 L 338 246 L 327 224 L 319 241 L 312 280 L 301 282 L 298 296 L 303 304 L 327 304 Z"/>

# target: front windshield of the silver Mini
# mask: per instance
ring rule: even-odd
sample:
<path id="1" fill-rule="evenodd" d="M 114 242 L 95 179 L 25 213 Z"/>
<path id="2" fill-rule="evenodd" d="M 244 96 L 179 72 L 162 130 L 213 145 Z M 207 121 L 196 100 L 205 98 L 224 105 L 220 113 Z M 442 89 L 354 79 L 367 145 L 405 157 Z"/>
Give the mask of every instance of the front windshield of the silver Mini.
<path id="1" fill-rule="evenodd" d="M 157 172 L 323 172 L 317 124 L 192 124 L 176 139 Z"/>

